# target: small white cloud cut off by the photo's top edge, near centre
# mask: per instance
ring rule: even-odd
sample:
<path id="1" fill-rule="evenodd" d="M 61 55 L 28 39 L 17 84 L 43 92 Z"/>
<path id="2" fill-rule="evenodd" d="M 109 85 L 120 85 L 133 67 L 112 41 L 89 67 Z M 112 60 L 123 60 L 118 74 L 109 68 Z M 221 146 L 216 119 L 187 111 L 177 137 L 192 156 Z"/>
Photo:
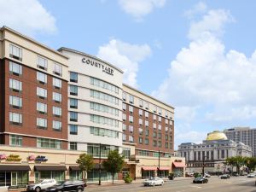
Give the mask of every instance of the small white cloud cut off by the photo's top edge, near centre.
<path id="1" fill-rule="evenodd" d="M 143 16 L 148 15 L 154 8 L 161 8 L 166 0 L 119 0 L 119 6 L 135 18 L 137 21 L 143 20 Z"/>

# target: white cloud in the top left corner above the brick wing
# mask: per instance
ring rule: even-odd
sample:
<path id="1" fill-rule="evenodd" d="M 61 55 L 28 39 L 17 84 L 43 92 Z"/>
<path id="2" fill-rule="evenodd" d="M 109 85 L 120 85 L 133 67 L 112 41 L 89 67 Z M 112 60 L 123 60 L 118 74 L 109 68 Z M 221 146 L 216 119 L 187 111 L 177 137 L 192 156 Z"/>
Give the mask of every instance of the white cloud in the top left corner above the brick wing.
<path id="1" fill-rule="evenodd" d="M 35 32 L 56 32 L 55 18 L 38 0 L 0 0 L 0 26 L 9 26 L 33 36 Z"/>

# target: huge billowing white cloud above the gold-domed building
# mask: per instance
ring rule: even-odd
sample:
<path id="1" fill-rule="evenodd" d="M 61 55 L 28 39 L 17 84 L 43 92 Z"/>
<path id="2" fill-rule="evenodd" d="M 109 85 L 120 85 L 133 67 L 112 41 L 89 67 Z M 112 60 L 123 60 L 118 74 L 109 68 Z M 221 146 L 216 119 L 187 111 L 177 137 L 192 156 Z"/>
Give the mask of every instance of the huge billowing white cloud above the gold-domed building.
<path id="1" fill-rule="evenodd" d="M 229 11 L 217 9 L 191 23 L 189 46 L 177 53 L 168 78 L 153 92 L 176 107 L 178 121 L 223 127 L 256 118 L 256 50 L 251 56 L 225 50 L 219 36 L 232 20 Z"/>

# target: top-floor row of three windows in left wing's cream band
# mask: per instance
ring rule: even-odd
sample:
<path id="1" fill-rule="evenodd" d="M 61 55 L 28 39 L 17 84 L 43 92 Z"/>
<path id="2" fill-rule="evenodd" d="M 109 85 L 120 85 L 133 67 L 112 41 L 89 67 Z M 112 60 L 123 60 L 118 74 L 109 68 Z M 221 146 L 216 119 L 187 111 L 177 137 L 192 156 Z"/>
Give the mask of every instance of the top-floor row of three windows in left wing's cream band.
<path id="1" fill-rule="evenodd" d="M 9 56 L 16 60 L 22 61 L 22 49 L 13 44 L 10 44 L 9 45 Z M 47 71 L 47 68 L 48 68 L 47 59 L 45 59 L 42 56 L 38 56 L 37 67 Z M 21 73 L 22 73 L 22 70 L 21 70 Z M 53 73 L 55 73 L 56 75 L 59 75 L 59 76 L 62 75 L 62 67 L 60 64 L 54 63 Z"/>

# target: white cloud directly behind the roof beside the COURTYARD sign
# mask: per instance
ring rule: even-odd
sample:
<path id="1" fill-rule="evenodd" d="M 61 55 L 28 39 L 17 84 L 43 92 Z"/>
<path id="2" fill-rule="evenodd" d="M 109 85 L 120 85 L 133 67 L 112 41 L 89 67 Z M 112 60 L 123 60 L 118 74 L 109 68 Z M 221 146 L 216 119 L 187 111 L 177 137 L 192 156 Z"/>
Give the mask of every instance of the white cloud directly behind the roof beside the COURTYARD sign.
<path id="1" fill-rule="evenodd" d="M 137 87 L 139 63 L 151 55 L 148 44 L 128 44 L 112 39 L 98 50 L 97 56 L 124 71 L 124 82 Z"/>

